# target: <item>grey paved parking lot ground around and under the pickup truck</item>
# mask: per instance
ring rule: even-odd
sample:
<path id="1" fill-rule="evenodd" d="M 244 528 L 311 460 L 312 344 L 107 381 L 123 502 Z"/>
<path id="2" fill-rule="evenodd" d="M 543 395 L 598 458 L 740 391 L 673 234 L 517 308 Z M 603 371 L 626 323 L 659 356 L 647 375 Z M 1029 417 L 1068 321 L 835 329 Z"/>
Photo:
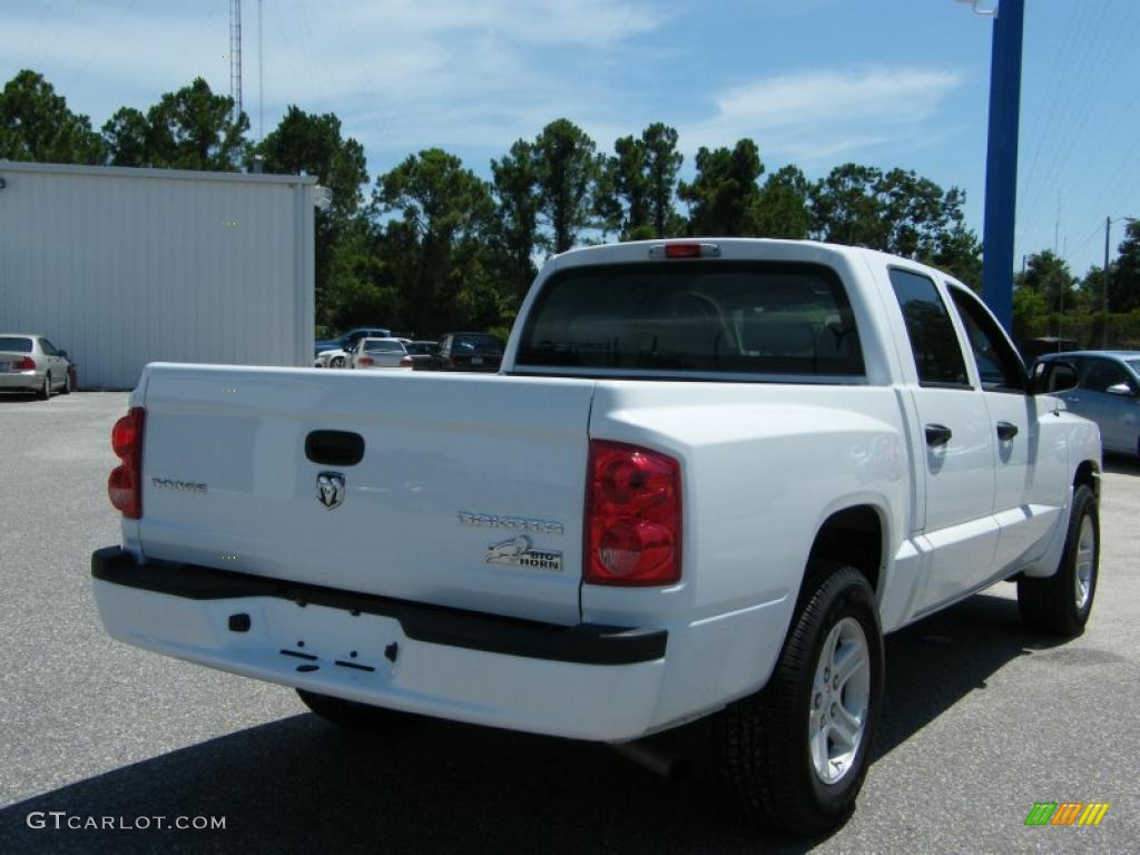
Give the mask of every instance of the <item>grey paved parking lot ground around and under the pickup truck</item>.
<path id="1" fill-rule="evenodd" d="M 123 394 L 0 397 L 0 852 L 1140 852 L 1135 464 L 1108 463 L 1083 637 L 1027 635 L 1003 585 L 888 640 L 878 762 L 813 848 L 739 822 L 699 762 L 667 783 L 604 747 L 447 723 L 356 738 L 287 690 L 112 642 L 87 561 L 117 542 L 104 483 L 124 412 Z M 1099 828 L 1026 828 L 1044 800 L 1112 807 Z M 32 812 L 226 830 L 36 830 Z"/>

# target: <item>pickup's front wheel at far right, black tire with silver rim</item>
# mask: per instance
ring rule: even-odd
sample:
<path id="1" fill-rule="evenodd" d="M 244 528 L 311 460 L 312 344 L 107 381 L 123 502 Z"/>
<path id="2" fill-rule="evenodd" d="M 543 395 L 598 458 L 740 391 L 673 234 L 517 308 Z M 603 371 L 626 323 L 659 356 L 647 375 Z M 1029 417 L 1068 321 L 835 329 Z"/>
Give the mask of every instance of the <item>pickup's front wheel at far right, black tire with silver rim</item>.
<path id="1" fill-rule="evenodd" d="M 1092 538 L 1091 549 L 1089 538 Z M 1082 542 L 1083 539 L 1083 542 Z M 1091 553 L 1091 554 L 1090 554 Z M 1088 563 L 1091 560 L 1091 565 Z M 1026 628 L 1061 637 L 1084 632 L 1092 613 L 1100 565 L 1100 513 L 1086 484 L 1073 494 L 1073 511 L 1065 532 L 1065 552 L 1052 576 L 1023 576 L 1017 580 L 1017 605 Z M 1080 602 L 1077 580 L 1085 577 Z"/>

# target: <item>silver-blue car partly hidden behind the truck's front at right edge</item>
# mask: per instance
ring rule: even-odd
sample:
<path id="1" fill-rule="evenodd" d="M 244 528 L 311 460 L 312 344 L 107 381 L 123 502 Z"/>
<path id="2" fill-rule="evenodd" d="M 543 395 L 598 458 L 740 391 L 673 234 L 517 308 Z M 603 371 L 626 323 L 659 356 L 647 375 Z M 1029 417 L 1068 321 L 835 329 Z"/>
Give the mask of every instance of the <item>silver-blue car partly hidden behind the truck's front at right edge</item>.
<path id="1" fill-rule="evenodd" d="M 1039 361 L 1068 363 L 1080 385 L 1058 392 L 1070 410 L 1100 426 L 1106 451 L 1140 455 L 1140 350 L 1077 350 Z"/>

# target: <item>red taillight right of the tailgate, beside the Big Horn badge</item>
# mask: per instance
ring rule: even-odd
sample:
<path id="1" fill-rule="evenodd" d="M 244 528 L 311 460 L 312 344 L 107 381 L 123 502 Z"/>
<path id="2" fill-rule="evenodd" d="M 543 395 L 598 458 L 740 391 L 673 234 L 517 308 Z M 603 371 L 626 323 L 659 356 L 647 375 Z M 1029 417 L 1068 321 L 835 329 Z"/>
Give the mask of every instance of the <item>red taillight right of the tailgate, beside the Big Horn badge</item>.
<path id="1" fill-rule="evenodd" d="M 589 443 L 584 576 L 593 585 L 681 578 L 681 466 L 636 446 Z"/>

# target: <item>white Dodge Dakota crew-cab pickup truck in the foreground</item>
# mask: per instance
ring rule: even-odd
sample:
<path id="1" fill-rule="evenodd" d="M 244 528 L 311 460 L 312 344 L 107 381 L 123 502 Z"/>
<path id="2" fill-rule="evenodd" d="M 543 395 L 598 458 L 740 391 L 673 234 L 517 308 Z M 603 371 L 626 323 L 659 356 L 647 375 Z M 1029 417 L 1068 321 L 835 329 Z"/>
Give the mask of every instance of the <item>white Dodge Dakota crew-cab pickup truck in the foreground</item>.
<path id="1" fill-rule="evenodd" d="M 882 634 L 1016 580 L 1080 633 L 1100 438 L 983 303 L 817 243 L 577 250 L 498 375 L 155 364 L 115 425 L 124 642 L 414 712 L 624 742 L 700 716 L 751 815 L 854 809 Z"/>

